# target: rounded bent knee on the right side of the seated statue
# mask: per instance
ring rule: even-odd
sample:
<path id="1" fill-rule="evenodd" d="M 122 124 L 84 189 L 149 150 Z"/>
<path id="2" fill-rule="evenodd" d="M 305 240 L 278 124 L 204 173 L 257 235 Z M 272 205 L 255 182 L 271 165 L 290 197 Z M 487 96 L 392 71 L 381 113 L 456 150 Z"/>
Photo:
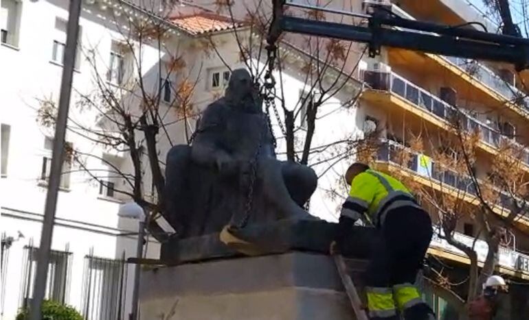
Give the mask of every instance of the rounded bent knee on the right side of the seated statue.
<path id="1" fill-rule="evenodd" d="M 310 167 L 294 162 L 282 162 L 282 173 L 291 198 L 300 206 L 311 199 L 317 187 L 318 177 Z"/>

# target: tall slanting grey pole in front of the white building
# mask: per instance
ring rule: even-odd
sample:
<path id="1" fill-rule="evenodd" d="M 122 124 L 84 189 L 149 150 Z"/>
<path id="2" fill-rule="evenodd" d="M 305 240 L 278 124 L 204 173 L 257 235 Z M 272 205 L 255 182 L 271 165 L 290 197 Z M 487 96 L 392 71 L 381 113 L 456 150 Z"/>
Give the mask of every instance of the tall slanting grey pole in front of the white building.
<path id="1" fill-rule="evenodd" d="M 74 77 L 79 16 L 82 0 L 70 0 L 66 35 L 66 48 L 63 60 L 63 76 L 60 82 L 60 97 L 52 153 L 52 166 L 49 173 L 44 220 L 41 232 L 41 245 L 38 247 L 35 284 L 30 308 L 30 319 L 41 320 L 41 306 L 46 291 L 46 278 L 49 264 L 49 251 L 52 247 L 55 210 L 60 185 L 60 175 L 65 158 L 65 136 L 70 106 L 71 82 Z"/>

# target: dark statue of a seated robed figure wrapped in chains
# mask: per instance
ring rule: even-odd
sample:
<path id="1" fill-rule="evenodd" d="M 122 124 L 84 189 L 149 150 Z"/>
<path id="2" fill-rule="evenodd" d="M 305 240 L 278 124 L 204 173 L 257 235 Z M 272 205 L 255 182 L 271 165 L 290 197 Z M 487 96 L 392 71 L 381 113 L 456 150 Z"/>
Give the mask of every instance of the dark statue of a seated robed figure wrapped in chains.
<path id="1" fill-rule="evenodd" d="M 317 176 L 276 159 L 262 100 L 246 70 L 233 71 L 225 97 L 207 106 L 196 130 L 192 146 L 172 147 L 166 162 L 164 216 L 181 238 L 238 224 L 248 205 L 249 223 L 311 219 L 302 206 Z"/>

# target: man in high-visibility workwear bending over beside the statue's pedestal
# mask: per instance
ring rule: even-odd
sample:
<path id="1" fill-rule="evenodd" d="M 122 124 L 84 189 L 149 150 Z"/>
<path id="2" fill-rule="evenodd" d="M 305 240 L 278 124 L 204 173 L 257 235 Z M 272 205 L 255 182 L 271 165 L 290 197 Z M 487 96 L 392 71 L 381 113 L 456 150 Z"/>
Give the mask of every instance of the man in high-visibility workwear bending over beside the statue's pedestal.
<path id="1" fill-rule="evenodd" d="M 341 208 L 336 249 L 346 245 L 355 221 L 366 218 L 376 227 L 365 279 L 370 319 L 434 319 L 434 312 L 413 285 L 431 241 L 429 214 L 394 177 L 356 162 L 346 173 L 350 193 Z M 333 251 L 333 245 L 331 245 Z"/>

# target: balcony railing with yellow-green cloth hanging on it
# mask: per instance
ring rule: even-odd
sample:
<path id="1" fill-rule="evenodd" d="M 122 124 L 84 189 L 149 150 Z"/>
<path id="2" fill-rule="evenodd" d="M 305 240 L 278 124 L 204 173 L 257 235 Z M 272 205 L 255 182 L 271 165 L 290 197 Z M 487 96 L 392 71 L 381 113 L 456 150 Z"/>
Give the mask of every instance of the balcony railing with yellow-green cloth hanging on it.
<path id="1" fill-rule="evenodd" d="M 403 157 L 403 153 L 407 154 L 407 157 Z M 400 143 L 396 143 L 392 140 L 381 141 L 376 156 L 377 160 L 381 162 L 396 164 L 409 171 L 413 171 L 417 175 L 426 177 L 432 182 L 437 182 L 438 184 L 444 184 L 445 186 L 451 186 L 456 190 L 460 190 L 462 195 L 477 195 L 476 186 L 469 175 L 442 167 L 440 164 L 437 164 L 435 160 L 417 153 Z M 408 158 L 409 161 L 403 163 L 403 158 Z M 509 208 L 510 201 L 511 197 L 506 193 L 499 192 L 499 205 L 504 208 Z"/>

